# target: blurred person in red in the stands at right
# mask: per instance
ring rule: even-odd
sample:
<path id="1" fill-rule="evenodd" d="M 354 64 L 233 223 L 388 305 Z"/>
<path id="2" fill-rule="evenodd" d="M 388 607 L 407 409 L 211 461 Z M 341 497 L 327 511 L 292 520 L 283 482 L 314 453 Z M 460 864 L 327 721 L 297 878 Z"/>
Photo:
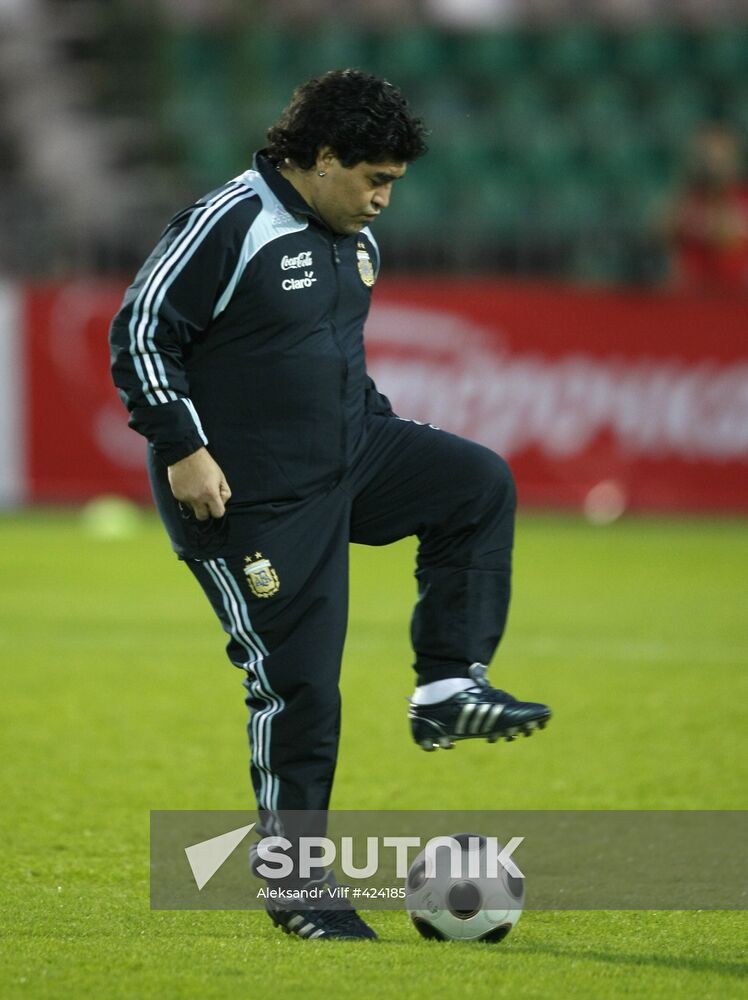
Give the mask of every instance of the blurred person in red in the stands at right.
<path id="1" fill-rule="evenodd" d="M 675 287 L 748 290 L 748 183 L 740 139 L 729 126 L 710 123 L 693 137 L 665 231 Z"/>

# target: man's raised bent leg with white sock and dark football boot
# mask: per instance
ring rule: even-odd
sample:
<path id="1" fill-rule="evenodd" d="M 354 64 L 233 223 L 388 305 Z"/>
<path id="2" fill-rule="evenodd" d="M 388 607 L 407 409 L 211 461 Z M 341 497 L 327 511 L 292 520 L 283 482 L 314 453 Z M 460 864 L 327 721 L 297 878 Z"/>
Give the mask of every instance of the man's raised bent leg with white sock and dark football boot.
<path id="1" fill-rule="evenodd" d="M 550 709 L 518 701 L 485 677 L 511 593 L 515 489 L 508 465 L 433 427 L 378 417 L 370 430 L 348 486 L 351 538 L 369 545 L 419 539 L 411 623 L 417 687 L 409 713 L 415 741 L 432 750 L 529 735 Z"/>

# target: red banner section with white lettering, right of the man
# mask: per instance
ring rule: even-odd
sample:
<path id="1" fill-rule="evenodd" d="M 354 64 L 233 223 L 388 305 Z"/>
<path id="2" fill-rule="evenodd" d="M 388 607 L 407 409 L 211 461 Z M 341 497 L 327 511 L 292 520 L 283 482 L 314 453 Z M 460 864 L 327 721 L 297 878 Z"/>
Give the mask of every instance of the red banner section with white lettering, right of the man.
<path id="1" fill-rule="evenodd" d="M 748 509 L 748 299 L 418 280 L 376 303 L 396 412 L 504 455 L 521 502 Z"/>

